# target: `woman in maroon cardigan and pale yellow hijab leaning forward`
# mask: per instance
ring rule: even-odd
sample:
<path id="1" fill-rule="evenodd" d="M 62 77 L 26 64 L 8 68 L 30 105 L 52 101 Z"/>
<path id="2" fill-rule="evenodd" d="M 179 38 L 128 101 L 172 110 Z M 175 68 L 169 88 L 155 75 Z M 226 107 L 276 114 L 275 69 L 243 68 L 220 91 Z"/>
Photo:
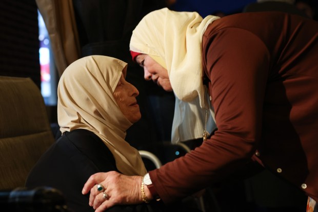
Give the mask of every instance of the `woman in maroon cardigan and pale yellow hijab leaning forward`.
<path id="1" fill-rule="evenodd" d="M 220 182 L 252 160 L 318 201 L 318 23 L 281 12 L 202 18 L 195 12 L 161 9 L 146 15 L 130 49 L 145 79 L 173 90 L 181 101 L 208 88 L 217 130 L 185 157 L 152 170 L 144 179 L 147 200 L 173 202 Z M 252 160 L 251 160 L 252 159 Z M 135 177 L 116 172 L 93 175 L 87 194 L 102 182 L 109 194 L 91 190 L 101 211 L 118 203 L 145 201 Z M 113 182 L 130 182 L 120 187 Z M 311 208 L 312 209 L 312 208 Z M 305 208 L 304 208 L 305 210 Z"/>

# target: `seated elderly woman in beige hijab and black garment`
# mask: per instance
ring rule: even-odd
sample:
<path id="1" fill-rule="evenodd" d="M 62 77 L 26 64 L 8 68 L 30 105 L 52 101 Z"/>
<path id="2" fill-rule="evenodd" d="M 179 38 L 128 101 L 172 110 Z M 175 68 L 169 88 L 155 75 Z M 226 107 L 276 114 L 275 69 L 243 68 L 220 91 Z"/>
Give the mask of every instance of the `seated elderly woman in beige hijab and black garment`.
<path id="1" fill-rule="evenodd" d="M 94 209 L 81 191 L 92 174 L 111 170 L 128 176 L 146 174 L 140 154 L 124 140 L 127 128 L 141 118 L 138 90 L 125 81 L 126 69 L 123 61 L 94 55 L 75 61 L 64 71 L 57 104 L 63 135 L 33 167 L 26 186 L 57 188 L 71 211 L 87 212 Z M 104 199 L 111 197 L 104 184 L 95 189 Z M 110 211 L 160 210 L 140 204 Z"/>

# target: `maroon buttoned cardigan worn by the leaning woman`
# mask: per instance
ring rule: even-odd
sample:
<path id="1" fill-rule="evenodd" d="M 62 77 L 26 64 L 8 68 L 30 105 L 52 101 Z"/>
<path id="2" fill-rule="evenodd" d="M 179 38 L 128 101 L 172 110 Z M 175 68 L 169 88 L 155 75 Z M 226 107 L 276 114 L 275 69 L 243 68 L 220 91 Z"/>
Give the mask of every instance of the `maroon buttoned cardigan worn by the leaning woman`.
<path id="1" fill-rule="evenodd" d="M 162 200 L 221 181 L 253 158 L 318 201 L 318 23 L 279 12 L 220 18 L 203 36 L 203 67 L 218 130 L 150 171 Z"/>

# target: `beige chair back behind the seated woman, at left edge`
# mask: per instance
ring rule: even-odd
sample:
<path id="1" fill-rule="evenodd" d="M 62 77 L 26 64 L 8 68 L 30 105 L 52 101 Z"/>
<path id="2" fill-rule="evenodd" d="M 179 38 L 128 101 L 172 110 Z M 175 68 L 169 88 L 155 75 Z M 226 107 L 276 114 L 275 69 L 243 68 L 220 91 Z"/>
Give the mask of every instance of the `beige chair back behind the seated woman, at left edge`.
<path id="1" fill-rule="evenodd" d="M 24 186 L 54 142 L 41 92 L 29 78 L 0 76 L 0 190 Z"/>

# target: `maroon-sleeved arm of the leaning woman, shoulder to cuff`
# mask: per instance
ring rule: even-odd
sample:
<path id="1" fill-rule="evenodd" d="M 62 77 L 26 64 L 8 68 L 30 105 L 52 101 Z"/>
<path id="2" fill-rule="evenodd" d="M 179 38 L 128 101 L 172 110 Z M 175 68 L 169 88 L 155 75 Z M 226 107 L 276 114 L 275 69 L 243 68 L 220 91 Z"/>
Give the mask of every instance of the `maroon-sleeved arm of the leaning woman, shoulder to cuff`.
<path id="1" fill-rule="evenodd" d="M 242 168 L 261 138 L 269 69 L 266 46 L 248 31 L 227 28 L 211 34 L 203 49 L 218 130 L 185 157 L 149 172 L 165 203 Z"/>

